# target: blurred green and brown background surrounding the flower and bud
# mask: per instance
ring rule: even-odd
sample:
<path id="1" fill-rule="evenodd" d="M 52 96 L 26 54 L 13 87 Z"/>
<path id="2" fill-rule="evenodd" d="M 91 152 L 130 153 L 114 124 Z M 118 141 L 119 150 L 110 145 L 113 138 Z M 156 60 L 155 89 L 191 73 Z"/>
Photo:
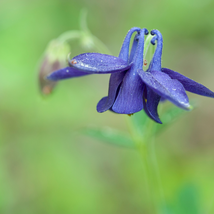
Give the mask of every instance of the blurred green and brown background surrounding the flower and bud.
<path id="1" fill-rule="evenodd" d="M 136 152 L 76 134 L 88 125 L 127 131 L 126 116 L 96 112 L 109 76 L 60 82 L 46 99 L 39 91 L 48 42 L 78 30 L 82 8 L 91 32 L 116 56 L 131 27 L 159 29 L 163 67 L 214 91 L 214 1 L 1 0 L 1 214 L 149 213 Z M 157 137 L 157 159 L 174 213 L 195 214 L 195 204 L 212 214 L 214 100 L 189 97 L 198 108 Z"/>

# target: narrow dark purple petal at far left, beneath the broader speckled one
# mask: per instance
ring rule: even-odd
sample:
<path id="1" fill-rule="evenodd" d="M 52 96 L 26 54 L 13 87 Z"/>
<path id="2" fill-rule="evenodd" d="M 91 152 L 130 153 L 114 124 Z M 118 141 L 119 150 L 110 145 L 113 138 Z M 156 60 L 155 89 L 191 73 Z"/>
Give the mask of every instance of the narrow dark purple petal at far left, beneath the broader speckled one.
<path id="1" fill-rule="evenodd" d="M 68 79 L 73 77 L 81 77 L 89 74 L 90 73 L 79 71 L 71 67 L 66 67 L 66 68 L 54 71 L 53 73 L 48 75 L 46 78 L 48 80 L 57 81 L 57 80 Z"/>

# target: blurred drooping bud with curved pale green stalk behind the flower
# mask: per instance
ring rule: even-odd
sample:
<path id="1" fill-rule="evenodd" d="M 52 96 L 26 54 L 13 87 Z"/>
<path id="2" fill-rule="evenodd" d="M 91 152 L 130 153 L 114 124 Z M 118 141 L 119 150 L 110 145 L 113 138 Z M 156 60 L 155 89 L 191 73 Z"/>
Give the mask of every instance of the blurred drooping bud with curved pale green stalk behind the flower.
<path id="1" fill-rule="evenodd" d="M 89 31 L 86 15 L 87 11 L 83 10 L 80 16 L 81 30 L 66 31 L 49 43 L 39 68 L 39 86 L 42 94 L 49 95 L 57 84 L 56 81 L 48 80 L 46 77 L 54 71 L 66 67 L 68 62 L 70 62 L 70 60 L 66 60 L 70 53 L 68 42 L 77 40 L 77 44 L 85 51 L 94 50 L 95 52 L 110 54 L 108 48 Z M 75 61 L 70 63 L 76 64 Z"/>

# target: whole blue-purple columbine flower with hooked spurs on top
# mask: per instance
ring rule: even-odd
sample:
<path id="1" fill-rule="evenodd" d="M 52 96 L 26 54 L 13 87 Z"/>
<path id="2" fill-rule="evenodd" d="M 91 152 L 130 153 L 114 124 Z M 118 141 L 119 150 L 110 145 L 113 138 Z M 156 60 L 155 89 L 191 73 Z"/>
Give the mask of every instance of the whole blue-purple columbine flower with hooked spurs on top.
<path id="1" fill-rule="evenodd" d="M 135 35 L 131 53 L 131 36 Z M 108 96 L 103 97 L 97 111 L 111 110 L 119 114 L 133 114 L 143 108 L 154 121 L 161 123 L 157 106 L 161 98 L 168 99 L 180 108 L 189 110 L 189 100 L 185 90 L 203 96 L 214 97 L 205 86 L 167 68 L 161 67 L 163 39 L 158 30 L 151 43 L 157 40 L 157 48 L 147 71 L 143 70 L 144 35 L 147 29 L 132 28 L 125 37 L 120 54 L 114 57 L 99 53 L 84 53 L 69 61 L 69 67 L 50 74 L 50 80 L 85 76 L 88 74 L 111 73 Z"/>

